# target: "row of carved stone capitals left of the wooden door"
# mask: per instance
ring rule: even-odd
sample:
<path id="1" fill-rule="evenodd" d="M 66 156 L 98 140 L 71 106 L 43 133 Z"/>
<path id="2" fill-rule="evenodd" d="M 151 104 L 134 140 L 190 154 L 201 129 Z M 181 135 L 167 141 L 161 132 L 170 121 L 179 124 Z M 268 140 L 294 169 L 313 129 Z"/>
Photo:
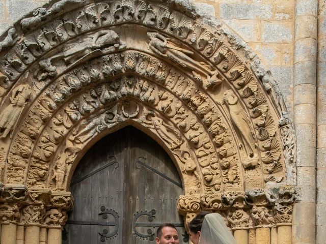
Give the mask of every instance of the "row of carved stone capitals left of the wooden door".
<path id="1" fill-rule="evenodd" d="M 64 226 L 67 210 L 72 209 L 70 192 L 52 193 L 49 189 L 27 190 L 23 186 L 5 185 L 0 197 L 2 223 L 37 226 Z"/>

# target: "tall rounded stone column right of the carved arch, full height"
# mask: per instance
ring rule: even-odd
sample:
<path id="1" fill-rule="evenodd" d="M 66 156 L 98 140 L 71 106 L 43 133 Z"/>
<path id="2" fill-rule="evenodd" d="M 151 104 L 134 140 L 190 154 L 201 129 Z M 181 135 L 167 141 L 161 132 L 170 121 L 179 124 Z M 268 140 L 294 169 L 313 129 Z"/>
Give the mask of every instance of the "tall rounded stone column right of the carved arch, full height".
<path id="1" fill-rule="evenodd" d="M 293 244 L 315 243 L 317 6 L 317 0 L 295 1 L 293 124 L 301 201 L 293 209 Z"/>

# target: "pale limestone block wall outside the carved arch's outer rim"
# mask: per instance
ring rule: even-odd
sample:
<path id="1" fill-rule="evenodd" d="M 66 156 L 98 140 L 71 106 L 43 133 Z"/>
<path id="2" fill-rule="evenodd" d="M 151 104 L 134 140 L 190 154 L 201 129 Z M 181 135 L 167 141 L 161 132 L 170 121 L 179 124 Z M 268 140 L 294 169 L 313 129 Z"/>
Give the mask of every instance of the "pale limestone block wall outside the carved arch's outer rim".
<path id="1" fill-rule="evenodd" d="M 46 2 L 0 0 L 0 33 Z M 276 78 L 288 111 L 293 116 L 294 0 L 196 2 L 206 13 L 215 12 L 216 17 L 222 19 L 254 50 Z"/>

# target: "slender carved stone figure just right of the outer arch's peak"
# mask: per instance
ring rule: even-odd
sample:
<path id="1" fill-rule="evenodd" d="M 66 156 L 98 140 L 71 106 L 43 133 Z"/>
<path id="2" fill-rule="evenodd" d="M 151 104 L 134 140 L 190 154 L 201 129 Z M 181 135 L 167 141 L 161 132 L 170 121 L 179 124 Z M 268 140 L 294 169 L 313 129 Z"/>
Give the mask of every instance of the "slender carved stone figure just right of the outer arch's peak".
<path id="1" fill-rule="evenodd" d="M 194 52 L 185 46 L 183 47 L 177 41 L 156 32 L 148 32 L 147 42 L 149 48 L 157 55 L 170 59 L 182 68 L 188 68 L 192 71 L 194 77 L 201 80 L 205 86 L 210 87 L 222 82 L 218 79 L 217 72 L 213 71 L 210 65 L 196 61 L 191 57 Z M 204 80 L 199 74 L 205 77 Z"/>

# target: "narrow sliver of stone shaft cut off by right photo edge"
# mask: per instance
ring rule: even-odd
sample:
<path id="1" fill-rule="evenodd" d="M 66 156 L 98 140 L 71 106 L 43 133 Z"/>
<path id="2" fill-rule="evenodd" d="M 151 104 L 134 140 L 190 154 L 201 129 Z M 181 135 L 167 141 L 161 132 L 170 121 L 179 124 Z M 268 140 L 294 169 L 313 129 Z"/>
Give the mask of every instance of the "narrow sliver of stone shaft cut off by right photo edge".
<path id="1" fill-rule="evenodd" d="M 326 239 L 326 5 L 318 4 L 317 38 L 317 206 L 316 206 L 316 243 Z"/>

